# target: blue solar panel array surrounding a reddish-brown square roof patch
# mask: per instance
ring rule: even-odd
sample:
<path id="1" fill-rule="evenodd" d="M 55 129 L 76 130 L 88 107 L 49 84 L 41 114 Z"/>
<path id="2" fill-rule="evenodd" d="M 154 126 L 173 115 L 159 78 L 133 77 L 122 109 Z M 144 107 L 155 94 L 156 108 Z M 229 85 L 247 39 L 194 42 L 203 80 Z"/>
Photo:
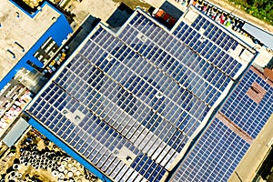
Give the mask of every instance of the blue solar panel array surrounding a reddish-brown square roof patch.
<path id="1" fill-rule="evenodd" d="M 259 103 L 246 95 L 248 88 L 254 82 L 266 90 L 266 95 Z M 247 132 L 249 136 L 255 138 L 273 112 L 272 96 L 273 87 L 253 70 L 249 70 L 236 91 L 227 99 L 227 104 L 223 106 L 221 112 Z"/>

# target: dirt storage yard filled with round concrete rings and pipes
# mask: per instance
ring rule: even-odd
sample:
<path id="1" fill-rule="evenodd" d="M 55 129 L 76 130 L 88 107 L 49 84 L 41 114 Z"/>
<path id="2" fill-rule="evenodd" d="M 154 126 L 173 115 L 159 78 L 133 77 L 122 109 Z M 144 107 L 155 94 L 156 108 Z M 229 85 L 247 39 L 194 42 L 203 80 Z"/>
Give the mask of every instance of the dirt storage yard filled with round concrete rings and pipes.
<path id="1" fill-rule="evenodd" d="M 15 147 L 1 146 L 2 181 L 99 181 L 35 129 L 22 136 Z"/>

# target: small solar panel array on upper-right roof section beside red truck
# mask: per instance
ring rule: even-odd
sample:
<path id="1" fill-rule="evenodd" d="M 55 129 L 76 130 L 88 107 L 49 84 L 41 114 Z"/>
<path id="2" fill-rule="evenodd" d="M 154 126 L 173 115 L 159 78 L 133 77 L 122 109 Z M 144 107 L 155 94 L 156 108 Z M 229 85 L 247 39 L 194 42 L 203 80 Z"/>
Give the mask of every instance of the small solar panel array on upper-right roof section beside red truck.
<path id="1" fill-rule="evenodd" d="M 205 30 L 204 34 L 199 32 L 201 27 Z M 229 50 L 236 49 L 238 41 L 202 15 L 198 15 L 192 25 L 181 22 L 175 29 L 174 35 L 232 78 L 242 66 L 228 53 Z"/>

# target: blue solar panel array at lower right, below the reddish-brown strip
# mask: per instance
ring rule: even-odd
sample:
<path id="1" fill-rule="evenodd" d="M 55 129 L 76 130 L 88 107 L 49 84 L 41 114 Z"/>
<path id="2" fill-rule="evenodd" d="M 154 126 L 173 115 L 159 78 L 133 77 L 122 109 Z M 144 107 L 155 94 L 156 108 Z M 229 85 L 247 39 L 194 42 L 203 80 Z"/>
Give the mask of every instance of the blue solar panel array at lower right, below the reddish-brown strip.
<path id="1" fill-rule="evenodd" d="M 227 181 L 249 144 L 215 118 L 171 181 Z"/>

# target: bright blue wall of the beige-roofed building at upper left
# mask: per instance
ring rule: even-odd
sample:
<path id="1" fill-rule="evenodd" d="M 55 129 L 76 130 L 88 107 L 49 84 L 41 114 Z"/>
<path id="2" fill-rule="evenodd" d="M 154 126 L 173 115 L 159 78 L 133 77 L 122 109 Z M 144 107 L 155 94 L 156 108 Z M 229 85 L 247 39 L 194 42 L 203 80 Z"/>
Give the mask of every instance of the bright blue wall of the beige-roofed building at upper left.
<path id="1" fill-rule="evenodd" d="M 10 0 L 10 2 L 14 5 L 16 5 L 12 0 Z M 33 71 L 34 67 L 29 66 L 26 61 L 30 60 L 31 62 L 33 62 L 36 66 L 43 66 L 43 63 L 41 63 L 38 59 L 36 59 L 33 55 L 35 54 L 35 52 L 39 49 L 39 47 L 41 45 L 43 45 L 43 43 L 45 42 L 45 40 L 48 37 L 52 37 L 55 41 L 57 45 L 62 45 L 62 41 L 64 39 L 66 39 L 67 35 L 69 35 L 70 33 L 73 32 L 72 28 L 70 27 L 68 21 L 66 20 L 66 16 L 63 15 L 61 12 L 59 12 L 54 6 L 48 4 L 47 2 L 45 2 L 43 5 L 41 5 L 41 9 L 43 9 L 43 7 L 45 5 L 49 5 L 50 7 L 52 7 L 53 9 L 56 10 L 57 13 L 60 14 L 60 16 L 56 19 L 56 22 L 51 25 L 45 32 L 44 35 L 42 35 L 39 40 L 35 43 L 35 45 L 33 45 L 29 51 L 25 54 L 25 56 L 23 56 L 21 58 L 21 60 L 14 66 L 14 68 L 2 79 L 2 81 L 0 82 L 0 90 L 15 76 L 15 74 L 17 73 L 18 70 L 20 70 L 22 67 L 25 67 L 26 69 L 28 69 L 29 71 Z M 23 10 L 20 6 L 16 5 L 19 9 L 21 9 L 22 11 L 25 12 L 25 10 Z M 35 15 L 37 15 L 37 13 L 39 12 L 39 10 L 37 10 L 35 12 L 35 14 L 30 15 L 27 12 L 25 12 L 26 15 L 29 15 L 31 18 L 34 18 Z"/>

